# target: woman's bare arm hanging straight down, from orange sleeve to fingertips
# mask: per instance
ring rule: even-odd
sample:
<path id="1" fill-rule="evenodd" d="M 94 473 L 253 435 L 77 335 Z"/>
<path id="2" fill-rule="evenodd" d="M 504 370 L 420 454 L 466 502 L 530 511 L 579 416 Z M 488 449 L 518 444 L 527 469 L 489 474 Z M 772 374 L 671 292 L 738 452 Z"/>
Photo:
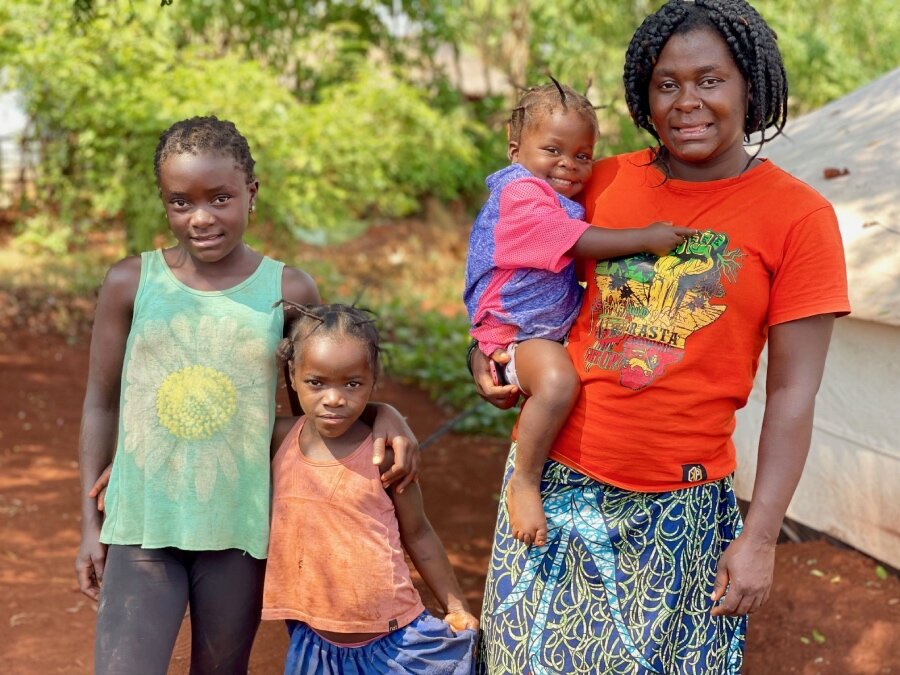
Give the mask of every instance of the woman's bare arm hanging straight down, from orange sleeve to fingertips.
<path id="1" fill-rule="evenodd" d="M 809 452 L 833 325 L 834 315 L 822 314 L 769 329 L 756 484 L 744 530 L 719 560 L 712 599 L 722 602 L 713 607 L 716 616 L 748 614 L 769 597 L 775 542 Z"/>

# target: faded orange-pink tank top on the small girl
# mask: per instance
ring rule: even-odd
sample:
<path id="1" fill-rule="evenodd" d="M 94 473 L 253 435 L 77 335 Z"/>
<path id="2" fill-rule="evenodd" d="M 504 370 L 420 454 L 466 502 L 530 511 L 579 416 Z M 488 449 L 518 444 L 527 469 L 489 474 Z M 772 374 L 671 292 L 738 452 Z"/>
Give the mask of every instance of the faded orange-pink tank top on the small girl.
<path id="1" fill-rule="evenodd" d="M 272 461 L 272 529 L 263 619 L 337 633 L 401 628 L 424 611 L 400 543 L 394 504 L 372 464 L 372 437 L 330 462 L 300 452 L 306 418 Z"/>

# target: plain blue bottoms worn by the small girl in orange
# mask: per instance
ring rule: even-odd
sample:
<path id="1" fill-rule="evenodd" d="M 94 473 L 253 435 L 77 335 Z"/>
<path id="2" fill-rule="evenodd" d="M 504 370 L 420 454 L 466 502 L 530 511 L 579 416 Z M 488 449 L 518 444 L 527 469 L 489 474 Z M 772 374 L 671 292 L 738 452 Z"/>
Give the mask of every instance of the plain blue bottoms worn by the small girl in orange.
<path id="1" fill-rule="evenodd" d="M 361 647 L 341 647 L 305 623 L 288 621 L 291 643 L 285 675 L 472 675 L 474 630 L 454 633 L 423 612 L 407 626 Z"/>

